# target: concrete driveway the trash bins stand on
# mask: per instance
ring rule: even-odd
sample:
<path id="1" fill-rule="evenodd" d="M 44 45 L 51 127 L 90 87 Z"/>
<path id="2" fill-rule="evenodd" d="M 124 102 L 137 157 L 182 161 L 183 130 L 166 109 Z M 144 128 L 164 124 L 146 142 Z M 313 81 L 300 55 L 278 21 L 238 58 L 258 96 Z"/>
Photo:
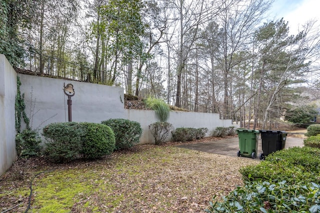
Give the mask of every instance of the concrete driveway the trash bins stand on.
<path id="1" fill-rule="evenodd" d="M 303 137 L 298 137 L 296 135 L 289 133 L 286 137 L 285 148 L 295 147 L 295 146 L 298 146 L 298 147 L 303 146 Z M 237 157 L 236 153 L 239 150 L 239 140 L 237 137 L 235 137 L 235 138 L 229 138 L 229 139 L 219 140 L 219 141 L 179 145 L 178 147 L 197 150 L 201 152 L 214 153 L 218 155 Z M 258 151 L 257 151 L 257 154 L 256 154 L 257 157 L 255 158 L 255 160 L 259 160 L 258 154 L 260 153 L 262 153 L 262 147 L 261 147 L 261 138 L 259 135 Z M 248 158 L 248 159 L 251 159 L 251 158 Z"/>

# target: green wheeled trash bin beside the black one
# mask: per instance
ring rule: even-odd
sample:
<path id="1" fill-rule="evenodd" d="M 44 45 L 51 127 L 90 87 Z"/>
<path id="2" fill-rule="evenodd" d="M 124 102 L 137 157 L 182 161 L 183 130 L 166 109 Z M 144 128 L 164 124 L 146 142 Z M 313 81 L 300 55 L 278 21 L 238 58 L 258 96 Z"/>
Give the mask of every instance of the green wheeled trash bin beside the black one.
<path id="1" fill-rule="evenodd" d="M 237 129 L 236 134 L 239 138 L 239 151 L 237 156 L 255 159 L 258 150 L 259 131 L 248 129 Z"/>

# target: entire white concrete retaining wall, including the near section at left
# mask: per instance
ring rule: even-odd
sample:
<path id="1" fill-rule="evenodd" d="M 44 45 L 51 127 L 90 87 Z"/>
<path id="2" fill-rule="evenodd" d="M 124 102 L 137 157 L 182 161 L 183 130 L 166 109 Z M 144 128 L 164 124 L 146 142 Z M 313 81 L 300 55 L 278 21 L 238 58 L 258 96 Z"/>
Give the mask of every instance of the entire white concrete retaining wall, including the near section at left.
<path id="1" fill-rule="evenodd" d="M 39 130 L 50 123 L 67 122 L 67 96 L 63 85 L 71 83 L 75 94 L 72 96 L 72 121 L 100 123 L 110 118 L 126 118 L 141 124 L 143 134 L 141 144 L 154 143 L 148 129 L 157 121 L 154 111 L 124 109 L 123 88 L 92 83 L 18 74 L 24 93 L 25 112 L 30 118 L 32 129 Z M 0 54 L 0 175 L 16 158 L 15 151 L 15 111 L 16 73 Z M 208 128 L 231 126 L 231 120 L 220 120 L 218 114 L 195 112 L 170 112 L 168 119 L 174 128 Z M 21 130 L 25 128 L 23 123 Z M 171 139 L 171 135 L 167 140 Z"/>

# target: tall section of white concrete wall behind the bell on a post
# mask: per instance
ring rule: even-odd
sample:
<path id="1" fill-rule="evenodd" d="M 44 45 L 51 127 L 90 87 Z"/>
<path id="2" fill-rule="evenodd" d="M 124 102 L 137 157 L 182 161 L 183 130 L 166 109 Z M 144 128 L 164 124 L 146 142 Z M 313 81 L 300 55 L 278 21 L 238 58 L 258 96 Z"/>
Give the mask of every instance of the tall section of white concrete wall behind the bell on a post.
<path id="1" fill-rule="evenodd" d="M 24 93 L 26 114 L 32 129 L 54 122 L 68 121 L 67 96 L 63 85 L 74 89 L 72 121 L 100 123 L 109 118 L 123 118 L 123 88 L 48 77 L 18 74 L 20 91 Z"/>

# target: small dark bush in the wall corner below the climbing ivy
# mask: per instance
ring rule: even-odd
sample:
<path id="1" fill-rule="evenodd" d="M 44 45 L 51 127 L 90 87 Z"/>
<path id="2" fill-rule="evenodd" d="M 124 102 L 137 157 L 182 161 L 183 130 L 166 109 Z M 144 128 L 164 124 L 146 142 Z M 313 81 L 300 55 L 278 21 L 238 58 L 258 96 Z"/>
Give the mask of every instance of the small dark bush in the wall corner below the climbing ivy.
<path id="1" fill-rule="evenodd" d="M 31 129 L 25 129 L 15 136 L 17 155 L 22 158 L 37 156 L 40 153 L 40 143 L 39 134 Z"/>

